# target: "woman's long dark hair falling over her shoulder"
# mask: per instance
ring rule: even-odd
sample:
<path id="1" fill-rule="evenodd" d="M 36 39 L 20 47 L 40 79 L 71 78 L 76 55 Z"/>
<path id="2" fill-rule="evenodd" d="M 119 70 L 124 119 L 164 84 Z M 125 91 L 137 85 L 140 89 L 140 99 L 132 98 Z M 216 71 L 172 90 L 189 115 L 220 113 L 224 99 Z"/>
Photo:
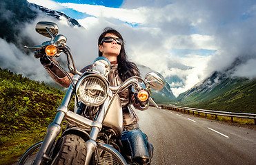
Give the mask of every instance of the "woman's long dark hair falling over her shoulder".
<path id="1" fill-rule="evenodd" d="M 119 39 L 123 39 L 121 34 L 112 28 L 105 28 L 104 32 L 99 36 L 98 45 L 100 45 L 102 39 L 106 34 L 114 34 Z M 102 43 L 101 43 L 102 44 Z M 102 56 L 102 52 L 99 51 L 99 56 Z M 140 76 L 139 69 L 135 63 L 132 63 L 127 60 L 126 50 L 124 49 L 124 44 L 121 45 L 120 54 L 117 56 L 117 63 L 118 63 L 118 74 L 121 80 L 126 80 L 131 76 Z"/>

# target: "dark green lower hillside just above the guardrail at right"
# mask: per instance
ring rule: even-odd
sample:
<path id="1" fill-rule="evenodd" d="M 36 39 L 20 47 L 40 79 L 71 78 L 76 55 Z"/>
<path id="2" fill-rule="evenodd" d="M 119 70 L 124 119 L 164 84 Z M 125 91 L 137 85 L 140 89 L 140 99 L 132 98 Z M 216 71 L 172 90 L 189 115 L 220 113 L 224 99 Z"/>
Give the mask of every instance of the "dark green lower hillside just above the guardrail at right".
<path id="1" fill-rule="evenodd" d="M 203 102 L 189 102 L 186 103 L 186 106 L 216 111 L 256 113 L 256 80 L 246 80 L 241 84 L 224 94 L 215 96 L 213 99 L 204 100 Z M 233 86 L 230 85 L 229 88 L 231 87 Z"/>

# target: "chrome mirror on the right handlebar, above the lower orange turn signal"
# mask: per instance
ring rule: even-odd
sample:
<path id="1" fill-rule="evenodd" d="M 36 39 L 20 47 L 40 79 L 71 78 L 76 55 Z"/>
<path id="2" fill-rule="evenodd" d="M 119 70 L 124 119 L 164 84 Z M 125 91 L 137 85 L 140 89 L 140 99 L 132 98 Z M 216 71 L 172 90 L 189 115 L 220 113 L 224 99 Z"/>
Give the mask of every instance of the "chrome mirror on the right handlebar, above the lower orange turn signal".
<path id="1" fill-rule="evenodd" d="M 154 72 L 150 72 L 145 76 L 146 84 L 150 86 L 150 88 L 160 91 L 164 87 L 164 80 L 160 78 Z"/>

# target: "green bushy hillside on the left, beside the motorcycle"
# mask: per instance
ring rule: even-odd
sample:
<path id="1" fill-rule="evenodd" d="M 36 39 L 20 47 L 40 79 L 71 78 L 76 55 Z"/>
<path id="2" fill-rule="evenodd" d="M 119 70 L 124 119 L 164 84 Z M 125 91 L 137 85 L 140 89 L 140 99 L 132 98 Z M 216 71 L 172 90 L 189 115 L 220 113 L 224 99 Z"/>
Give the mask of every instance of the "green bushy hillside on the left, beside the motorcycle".
<path id="1" fill-rule="evenodd" d="M 0 68 L 0 164 L 17 162 L 43 140 L 64 93 Z"/>

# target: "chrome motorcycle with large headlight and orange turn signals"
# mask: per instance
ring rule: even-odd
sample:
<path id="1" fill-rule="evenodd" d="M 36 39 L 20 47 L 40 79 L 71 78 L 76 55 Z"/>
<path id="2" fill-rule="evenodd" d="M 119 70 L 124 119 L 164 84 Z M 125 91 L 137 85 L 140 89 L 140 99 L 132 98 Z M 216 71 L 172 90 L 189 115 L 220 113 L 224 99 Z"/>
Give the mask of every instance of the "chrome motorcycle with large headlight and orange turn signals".
<path id="1" fill-rule="evenodd" d="M 161 90 L 164 81 L 150 72 L 144 79 L 133 76 L 117 87 L 110 87 L 106 78 L 110 72 L 107 58 L 96 58 L 92 69 L 81 73 L 77 71 L 70 48 L 66 45 L 66 36 L 58 34 L 57 24 L 41 21 L 35 30 L 49 37 L 50 41 L 25 48 L 35 50 L 35 58 L 48 58 L 68 76 L 70 86 L 57 108 L 55 120 L 48 125 L 46 137 L 28 148 L 18 164 L 130 164 L 129 155 L 122 151 L 120 140 L 123 115 L 118 94 L 132 87 L 139 100 L 149 99 L 155 107 L 161 109 L 150 94 L 151 88 Z M 75 75 L 72 78 L 66 69 L 53 60 L 53 57 L 61 53 L 66 54 L 69 72 Z M 70 102 L 74 97 L 75 108 L 70 111 Z M 67 124 L 61 133 L 63 121 Z"/>

